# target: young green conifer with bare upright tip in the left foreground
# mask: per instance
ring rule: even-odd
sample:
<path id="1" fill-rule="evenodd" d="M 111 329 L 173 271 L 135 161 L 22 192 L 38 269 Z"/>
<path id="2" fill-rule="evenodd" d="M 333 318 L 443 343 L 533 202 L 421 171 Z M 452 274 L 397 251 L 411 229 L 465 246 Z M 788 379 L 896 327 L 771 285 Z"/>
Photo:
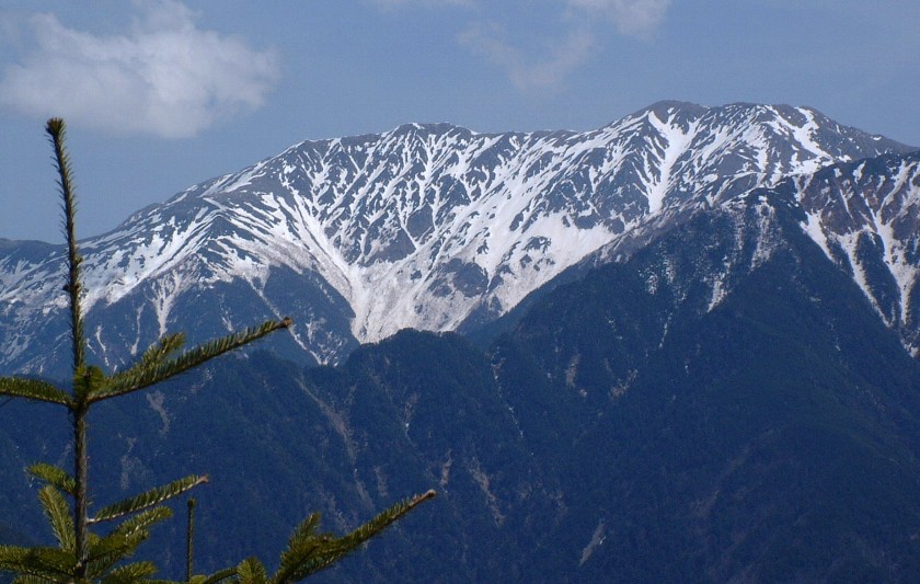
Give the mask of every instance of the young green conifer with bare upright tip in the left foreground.
<path id="1" fill-rule="evenodd" d="M 32 583 L 130 583 L 165 582 L 153 580 L 157 565 L 149 561 L 131 561 L 140 543 L 149 537 L 150 528 L 171 517 L 163 503 L 174 500 L 207 482 L 207 476 L 192 474 L 168 484 L 150 489 L 91 513 L 87 419 L 92 405 L 113 398 L 146 389 L 154 383 L 197 367 L 223 353 L 249 345 L 264 336 L 290 327 L 290 319 L 271 320 L 261 325 L 217 339 L 182 352 L 182 334 L 163 336 L 148 348 L 129 368 L 106 374 L 85 360 L 85 336 L 81 300 L 82 257 L 74 230 L 76 198 L 72 188 L 70 160 L 65 148 L 65 123 L 49 119 L 46 131 L 55 150 L 58 186 L 62 196 L 65 234 L 67 238 L 67 284 L 70 332 L 72 340 L 72 386 L 70 391 L 51 383 L 24 378 L 0 378 L 0 396 L 20 398 L 67 409 L 71 422 L 73 451 L 72 474 L 65 469 L 38 462 L 30 473 L 45 485 L 38 500 L 54 533 L 56 547 L 0 546 L 0 572 L 12 572 L 14 582 Z M 269 575 L 262 562 L 249 558 L 239 565 L 210 575 L 192 573 L 193 534 L 189 505 L 188 557 L 186 582 L 217 583 L 289 583 L 330 566 L 361 543 L 383 531 L 424 501 L 434 491 L 398 503 L 356 530 L 342 537 L 319 530 L 320 516 L 311 514 L 291 535 L 281 553 L 278 570 Z M 101 524 L 112 526 L 100 531 Z"/>

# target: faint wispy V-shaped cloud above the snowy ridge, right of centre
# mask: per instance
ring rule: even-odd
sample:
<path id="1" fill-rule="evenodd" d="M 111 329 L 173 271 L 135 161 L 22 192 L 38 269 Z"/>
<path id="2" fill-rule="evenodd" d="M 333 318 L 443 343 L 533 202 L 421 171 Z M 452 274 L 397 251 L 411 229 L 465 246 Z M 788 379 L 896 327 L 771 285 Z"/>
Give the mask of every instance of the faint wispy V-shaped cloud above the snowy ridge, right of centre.
<path id="1" fill-rule="evenodd" d="M 588 58 L 594 45 L 590 34 L 574 32 L 551 45 L 544 55 L 531 56 L 508 44 L 495 24 L 470 27 L 460 35 L 460 42 L 506 69 L 511 83 L 520 90 L 559 88 Z"/>

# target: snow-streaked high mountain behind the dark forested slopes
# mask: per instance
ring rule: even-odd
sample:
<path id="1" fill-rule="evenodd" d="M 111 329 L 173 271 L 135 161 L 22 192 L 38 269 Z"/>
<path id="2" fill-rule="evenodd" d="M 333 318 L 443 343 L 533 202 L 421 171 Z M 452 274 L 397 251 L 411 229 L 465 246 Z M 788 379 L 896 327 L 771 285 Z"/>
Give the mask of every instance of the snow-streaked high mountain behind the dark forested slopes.
<path id="1" fill-rule="evenodd" d="M 916 352 L 909 151 L 806 107 L 676 102 L 586 133 L 411 124 L 306 141 L 81 242 L 91 350 L 117 366 L 168 331 L 199 341 L 288 314 L 283 351 L 334 362 L 402 328 L 487 322 L 595 252 L 792 181 L 803 229 Z M 62 257 L 0 242 L 0 370 L 66 355 Z"/>

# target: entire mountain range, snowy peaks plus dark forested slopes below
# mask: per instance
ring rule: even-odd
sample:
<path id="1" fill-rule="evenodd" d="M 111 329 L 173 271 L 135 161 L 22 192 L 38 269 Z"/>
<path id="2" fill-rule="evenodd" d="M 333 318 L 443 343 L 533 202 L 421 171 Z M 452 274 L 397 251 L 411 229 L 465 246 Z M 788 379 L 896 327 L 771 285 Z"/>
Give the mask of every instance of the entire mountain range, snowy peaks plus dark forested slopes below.
<path id="1" fill-rule="evenodd" d="M 917 148 L 784 105 L 411 124 L 80 247 L 106 368 L 295 321 L 93 421 L 102 494 L 210 474 L 203 569 L 434 488 L 325 577 L 920 581 Z M 64 255 L 0 240 L 0 375 L 66 375 Z M 20 470 L 69 456 L 44 416 L 0 409 L 0 538 L 50 537 Z M 176 573 L 177 523 L 150 545 Z"/>

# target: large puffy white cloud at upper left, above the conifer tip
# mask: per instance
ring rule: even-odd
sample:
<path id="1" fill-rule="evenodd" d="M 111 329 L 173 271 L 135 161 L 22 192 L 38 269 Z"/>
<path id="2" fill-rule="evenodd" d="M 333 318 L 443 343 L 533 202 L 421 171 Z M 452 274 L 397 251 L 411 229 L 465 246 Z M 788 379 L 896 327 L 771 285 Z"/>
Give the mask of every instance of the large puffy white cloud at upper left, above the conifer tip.
<path id="1" fill-rule="evenodd" d="M 0 103 L 103 130 L 194 136 L 263 105 L 279 77 L 274 51 L 196 26 L 174 0 L 136 2 L 128 32 L 96 36 L 53 14 L 28 19 L 34 46 L 0 78 Z"/>

